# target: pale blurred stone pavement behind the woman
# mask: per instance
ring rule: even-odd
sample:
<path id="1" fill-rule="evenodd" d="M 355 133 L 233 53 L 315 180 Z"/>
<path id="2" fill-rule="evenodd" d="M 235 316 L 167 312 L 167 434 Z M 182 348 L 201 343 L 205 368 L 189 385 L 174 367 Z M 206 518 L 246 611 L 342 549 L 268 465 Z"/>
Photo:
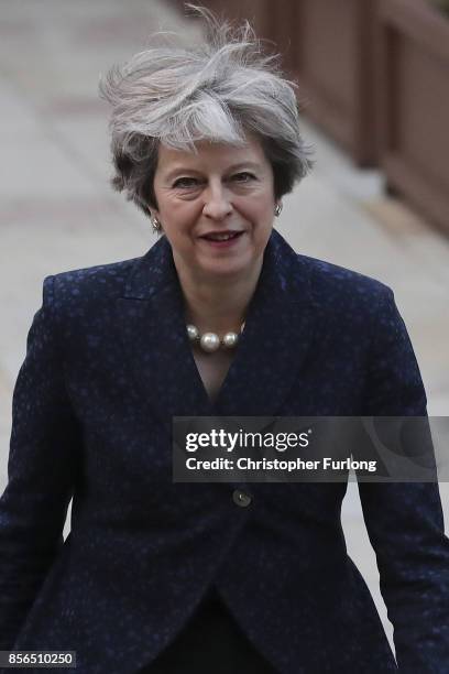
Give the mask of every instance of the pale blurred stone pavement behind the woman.
<path id="1" fill-rule="evenodd" d="M 149 220 L 108 185 L 107 106 L 97 96 L 99 74 L 144 48 L 154 30 L 180 31 L 186 42 L 200 39 L 197 24 L 162 0 L 0 0 L 1 491 L 12 388 L 44 276 L 140 256 L 154 242 Z M 429 413 L 449 415 L 448 240 L 385 198 L 376 172 L 355 171 L 305 122 L 304 133 L 317 164 L 285 198 L 280 231 L 297 251 L 393 287 Z M 448 486 L 440 491 L 448 522 Z M 353 483 L 343 525 L 391 638 Z"/>

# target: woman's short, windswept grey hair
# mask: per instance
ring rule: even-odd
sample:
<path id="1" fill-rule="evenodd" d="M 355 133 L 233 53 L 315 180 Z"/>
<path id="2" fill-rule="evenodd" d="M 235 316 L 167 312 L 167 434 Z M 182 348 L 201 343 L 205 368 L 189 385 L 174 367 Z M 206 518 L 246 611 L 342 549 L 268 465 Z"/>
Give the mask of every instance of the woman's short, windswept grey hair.
<path id="1" fill-rule="evenodd" d="M 232 26 L 205 8 L 204 43 L 190 48 L 162 35 L 154 44 L 101 77 L 100 96 L 112 106 L 110 120 L 114 189 L 149 215 L 157 207 L 153 180 L 160 143 L 195 152 L 195 142 L 242 146 L 258 137 L 274 174 L 276 199 L 292 192 L 311 166 L 298 128 L 295 83 L 267 54 L 248 21 Z"/>

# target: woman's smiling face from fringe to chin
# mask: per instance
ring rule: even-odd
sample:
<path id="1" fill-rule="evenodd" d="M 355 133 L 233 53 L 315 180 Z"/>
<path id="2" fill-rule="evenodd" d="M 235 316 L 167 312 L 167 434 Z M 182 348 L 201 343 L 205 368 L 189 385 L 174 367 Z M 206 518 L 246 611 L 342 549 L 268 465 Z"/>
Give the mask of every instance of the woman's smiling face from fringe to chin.
<path id="1" fill-rule="evenodd" d="M 262 267 L 274 216 L 273 171 L 262 146 L 201 141 L 197 154 L 160 146 L 157 210 L 183 278 L 219 280 Z M 225 239 L 231 235 L 231 239 Z"/>

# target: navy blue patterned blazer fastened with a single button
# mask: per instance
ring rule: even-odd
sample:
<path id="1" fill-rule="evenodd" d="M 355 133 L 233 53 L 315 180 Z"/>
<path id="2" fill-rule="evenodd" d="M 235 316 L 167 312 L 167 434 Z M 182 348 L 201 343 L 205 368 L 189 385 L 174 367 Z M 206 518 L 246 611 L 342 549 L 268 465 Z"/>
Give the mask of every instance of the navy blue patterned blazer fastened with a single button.
<path id="1" fill-rule="evenodd" d="M 173 483 L 174 415 L 424 415 L 392 291 L 273 231 L 212 404 L 168 241 L 57 274 L 28 340 L 0 501 L 0 646 L 133 674 L 215 585 L 282 674 L 396 670 L 347 555 L 347 483 Z M 401 672 L 449 671 L 449 541 L 435 483 L 360 483 Z M 72 531 L 62 531 L 73 497 Z"/>

